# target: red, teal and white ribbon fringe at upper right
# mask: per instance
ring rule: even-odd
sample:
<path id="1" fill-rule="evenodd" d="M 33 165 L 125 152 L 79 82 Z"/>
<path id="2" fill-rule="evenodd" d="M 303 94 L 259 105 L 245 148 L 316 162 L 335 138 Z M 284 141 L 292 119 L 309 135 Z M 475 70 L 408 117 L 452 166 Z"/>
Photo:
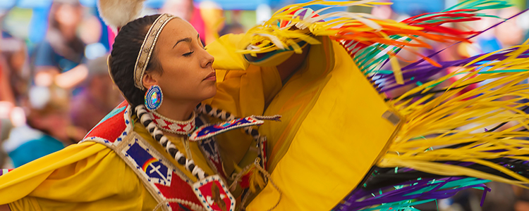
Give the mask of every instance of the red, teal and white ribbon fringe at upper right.
<path id="1" fill-rule="evenodd" d="M 403 77 L 401 75 L 401 69 L 397 60 L 397 58 L 399 58 L 399 56 L 397 55 L 399 51 L 406 48 L 411 53 L 415 53 L 418 56 L 421 56 L 422 60 L 426 60 L 428 63 L 440 67 L 441 65 L 432 60 L 430 56 L 422 56 L 416 53 L 415 50 L 407 48 L 407 46 L 426 47 L 431 49 L 430 45 L 427 45 L 424 41 L 420 39 L 421 37 L 425 36 L 425 38 L 427 39 L 439 42 L 449 42 L 451 40 L 468 42 L 468 39 L 472 38 L 468 37 L 468 35 L 475 36 L 480 32 L 464 32 L 461 30 L 455 30 L 450 27 L 444 27 L 442 26 L 442 24 L 480 20 L 480 17 L 498 18 L 493 15 L 485 15 L 477 12 L 484 9 L 506 8 L 509 6 L 511 5 L 509 5 L 507 1 L 463 1 L 461 4 L 457 4 L 456 6 L 448 8 L 445 11 L 439 13 L 426 13 L 403 20 L 401 23 L 406 23 L 408 25 L 413 25 L 416 27 L 422 27 L 423 30 L 421 31 L 422 33 L 404 35 L 393 34 L 388 37 L 389 39 L 393 40 L 404 40 L 401 41 L 401 43 L 399 44 L 377 43 L 362 49 L 355 49 L 355 46 L 358 45 L 358 43 L 354 41 L 343 41 L 343 45 L 346 47 L 349 53 L 353 55 L 353 59 L 356 63 L 358 63 L 358 68 L 360 68 L 360 70 L 364 72 L 365 75 L 372 75 L 373 73 L 377 72 L 376 70 L 382 67 L 382 65 L 385 65 L 389 61 L 393 69 L 393 71 L 391 72 L 394 73 L 396 83 L 403 84 Z M 437 32 L 440 34 L 449 34 L 451 37 L 449 36 L 447 37 L 447 39 L 443 39 L 445 36 L 439 34 L 430 34 L 432 32 Z M 463 38 L 463 36 L 467 37 Z M 418 42 L 422 45 L 411 45 L 411 41 Z M 386 51 L 387 53 L 383 53 L 383 55 L 380 56 L 380 53 Z"/>

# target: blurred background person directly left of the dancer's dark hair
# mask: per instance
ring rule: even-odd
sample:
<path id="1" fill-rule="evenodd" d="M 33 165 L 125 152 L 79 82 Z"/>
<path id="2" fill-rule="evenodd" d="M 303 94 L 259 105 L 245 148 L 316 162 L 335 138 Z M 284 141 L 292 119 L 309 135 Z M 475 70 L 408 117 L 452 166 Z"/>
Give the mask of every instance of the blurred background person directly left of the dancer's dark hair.
<path id="1" fill-rule="evenodd" d="M 89 60 L 88 77 L 80 84 L 80 92 L 71 101 L 73 124 L 90 131 L 99 120 L 123 101 L 107 70 L 107 56 Z"/>

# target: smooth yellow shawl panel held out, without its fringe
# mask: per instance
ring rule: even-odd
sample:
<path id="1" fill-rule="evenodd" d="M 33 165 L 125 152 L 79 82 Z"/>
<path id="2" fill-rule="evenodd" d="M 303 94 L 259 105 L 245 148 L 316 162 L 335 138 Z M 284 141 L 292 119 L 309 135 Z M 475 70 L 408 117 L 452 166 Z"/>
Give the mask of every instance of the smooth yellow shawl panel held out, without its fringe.
<path id="1" fill-rule="evenodd" d="M 386 103 L 343 47 L 320 41 L 265 112 L 283 115 L 282 121 L 260 127 L 269 140 L 272 181 L 283 193 L 274 210 L 331 210 L 359 184 L 396 129 L 382 118 Z M 247 210 L 269 210 L 277 200 L 268 183 Z"/>

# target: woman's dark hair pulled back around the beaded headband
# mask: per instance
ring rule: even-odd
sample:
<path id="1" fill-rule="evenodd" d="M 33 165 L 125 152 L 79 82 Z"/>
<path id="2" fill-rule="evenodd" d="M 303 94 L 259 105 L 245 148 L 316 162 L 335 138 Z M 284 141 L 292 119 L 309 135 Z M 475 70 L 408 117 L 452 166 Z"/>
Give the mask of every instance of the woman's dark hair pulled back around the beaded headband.
<path id="1" fill-rule="evenodd" d="M 134 85 L 136 58 L 138 58 L 145 35 L 158 17 L 159 15 L 147 15 L 121 27 L 116 39 L 114 39 L 114 45 L 112 45 L 109 59 L 110 72 L 114 83 L 133 108 L 143 104 L 145 96 L 145 90 L 138 89 Z M 156 51 L 156 47 L 154 51 Z M 159 71 L 162 73 L 161 67 L 156 53 L 153 52 L 145 72 Z"/>

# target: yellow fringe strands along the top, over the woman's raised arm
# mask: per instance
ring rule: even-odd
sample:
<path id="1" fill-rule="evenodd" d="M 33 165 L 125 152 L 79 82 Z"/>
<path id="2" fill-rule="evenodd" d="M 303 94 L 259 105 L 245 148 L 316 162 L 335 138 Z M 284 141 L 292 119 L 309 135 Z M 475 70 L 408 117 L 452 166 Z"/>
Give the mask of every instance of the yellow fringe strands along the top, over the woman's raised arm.
<path id="1" fill-rule="evenodd" d="M 300 53 L 300 49 L 296 44 L 297 41 L 306 41 L 309 44 L 320 44 L 314 36 L 339 36 L 339 32 L 377 32 L 384 29 L 384 27 L 399 27 L 402 30 L 422 30 L 422 27 L 409 26 L 404 23 L 398 23 L 394 20 L 381 20 L 374 15 L 367 13 L 349 13 L 349 12 L 334 12 L 320 15 L 313 18 L 293 17 L 288 13 L 292 13 L 300 8 L 311 5 L 327 6 L 315 13 L 321 13 L 324 10 L 340 6 L 376 6 L 389 5 L 389 2 L 376 2 L 377 0 L 363 0 L 363 1 L 309 1 L 303 4 L 293 4 L 279 9 L 272 15 L 272 18 L 267 20 L 262 25 L 257 25 L 248 32 L 245 36 L 251 40 L 241 46 L 253 46 L 250 49 L 239 49 L 238 53 L 245 53 L 255 56 L 257 53 L 267 53 L 279 49 L 286 49 L 293 46 L 296 53 Z M 324 18 L 334 17 L 334 20 L 326 22 L 318 22 Z M 277 25 L 280 21 L 291 21 L 286 27 L 279 27 Z M 295 26 L 295 28 L 294 28 Z M 341 26 L 348 26 L 346 29 Z M 382 37 L 382 34 L 381 34 Z M 358 37 L 362 39 L 362 37 Z"/>

